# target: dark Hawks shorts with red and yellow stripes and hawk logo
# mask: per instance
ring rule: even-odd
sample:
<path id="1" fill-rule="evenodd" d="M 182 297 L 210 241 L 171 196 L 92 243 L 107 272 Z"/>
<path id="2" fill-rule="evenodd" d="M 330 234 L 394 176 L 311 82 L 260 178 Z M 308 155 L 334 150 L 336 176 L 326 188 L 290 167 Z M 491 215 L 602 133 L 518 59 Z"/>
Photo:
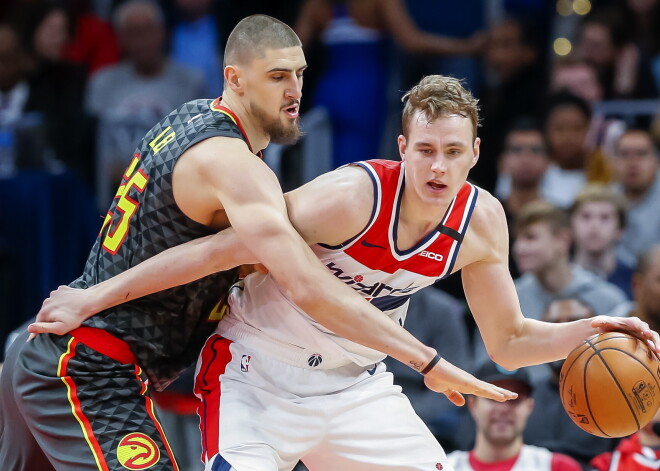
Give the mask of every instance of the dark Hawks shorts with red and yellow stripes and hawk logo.
<path id="1" fill-rule="evenodd" d="M 29 342 L 23 334 L 11 346 L 0 379 L 0 467 L 178 471 L 128 346 L 89 327 L 72 334 Z"/>

